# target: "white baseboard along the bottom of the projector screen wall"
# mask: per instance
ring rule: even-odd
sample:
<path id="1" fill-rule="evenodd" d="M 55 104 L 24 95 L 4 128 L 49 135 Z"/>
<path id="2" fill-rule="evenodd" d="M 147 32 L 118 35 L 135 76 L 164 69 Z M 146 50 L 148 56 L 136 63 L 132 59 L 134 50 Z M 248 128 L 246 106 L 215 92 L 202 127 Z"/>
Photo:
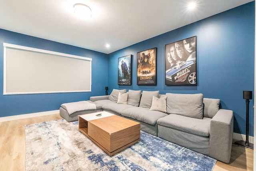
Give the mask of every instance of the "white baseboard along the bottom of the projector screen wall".
<path id="1" fill-rule="evenodd" d="M 6 117 L 0 117 L 0 122 L 4 121 L 12 121 L 17 119 L 25 119 L 29 117 L 37 117 L 37 116 L 44 116 L 44 115 L 52 115 L 60 113 L 60 110 L 52 110 L 52 111 L 43 111 L 38 113 L 28 113 L 23 115 L 14 115 L 14 116 L 6 116 Z"/>

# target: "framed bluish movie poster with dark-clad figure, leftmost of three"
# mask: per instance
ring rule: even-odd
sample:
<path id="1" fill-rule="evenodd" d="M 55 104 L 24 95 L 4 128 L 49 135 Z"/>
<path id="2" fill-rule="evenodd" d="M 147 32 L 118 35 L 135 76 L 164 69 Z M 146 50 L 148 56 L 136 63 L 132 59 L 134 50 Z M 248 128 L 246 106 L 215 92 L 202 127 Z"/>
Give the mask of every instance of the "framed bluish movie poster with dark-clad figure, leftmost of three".
<path id="1" fill-rule="evenodd" d="M 118 85 L 132 85 L 132 55 L 118 58 Z"/>

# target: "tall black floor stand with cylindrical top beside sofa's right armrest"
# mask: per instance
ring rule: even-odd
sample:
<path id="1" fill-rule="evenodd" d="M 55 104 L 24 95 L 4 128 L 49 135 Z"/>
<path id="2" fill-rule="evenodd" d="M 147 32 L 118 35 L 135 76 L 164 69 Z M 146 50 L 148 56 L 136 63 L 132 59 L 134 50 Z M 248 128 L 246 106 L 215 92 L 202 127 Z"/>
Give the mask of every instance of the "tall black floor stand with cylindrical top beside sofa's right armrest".
<path id="1" fill-rule="evenodd" d="M 252 91 L 244 91 L 244 99 L 246 99 L 246 140 L 245 141 L 236 141 L 237 144 L 242 145 L 244 147 L 248 147 L 253 149 L 253 144 L 249 143 L 249 103 L 252 99 Z"/>

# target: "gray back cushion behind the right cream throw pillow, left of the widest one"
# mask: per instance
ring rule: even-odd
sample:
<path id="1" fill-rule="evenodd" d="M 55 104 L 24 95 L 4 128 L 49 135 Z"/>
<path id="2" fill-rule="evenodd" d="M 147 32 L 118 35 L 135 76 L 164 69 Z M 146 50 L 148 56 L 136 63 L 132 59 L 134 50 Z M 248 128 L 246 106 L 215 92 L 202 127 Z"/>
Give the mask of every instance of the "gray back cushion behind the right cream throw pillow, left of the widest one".
<path id="1" fill-rule="evenodd" d="M 140 107 L 150 108 L 153 96 L 158 97 L 159 91 L 142 91 Z"/>

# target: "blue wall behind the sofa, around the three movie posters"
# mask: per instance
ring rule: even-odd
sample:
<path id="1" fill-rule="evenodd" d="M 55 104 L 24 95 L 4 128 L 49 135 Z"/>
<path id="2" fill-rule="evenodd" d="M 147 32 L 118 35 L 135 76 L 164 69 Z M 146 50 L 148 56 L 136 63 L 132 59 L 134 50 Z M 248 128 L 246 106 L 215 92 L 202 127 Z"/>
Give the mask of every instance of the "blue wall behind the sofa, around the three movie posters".
<path id="1" fill-rule="evenodd" d="M 253 1 L 109 54 L 109 89 L 203 93 L 204 97 L 220 99 L 223 109 L 233 110 L 234 132 L 246 134 L 243 90 L 254 91 L 254 10 Z M 165 85 L 165 45 L 192 36 L 197 36 L 198 85 Z M 138 86 L 137 52 L 154 47 L 157 47 L 157 85 Z M 118 58 L 130 54 L 132 85 L 118 85 Z M 254 99 L 250 101 L 250 136 L 254 129 L 253 105 Z"/>

